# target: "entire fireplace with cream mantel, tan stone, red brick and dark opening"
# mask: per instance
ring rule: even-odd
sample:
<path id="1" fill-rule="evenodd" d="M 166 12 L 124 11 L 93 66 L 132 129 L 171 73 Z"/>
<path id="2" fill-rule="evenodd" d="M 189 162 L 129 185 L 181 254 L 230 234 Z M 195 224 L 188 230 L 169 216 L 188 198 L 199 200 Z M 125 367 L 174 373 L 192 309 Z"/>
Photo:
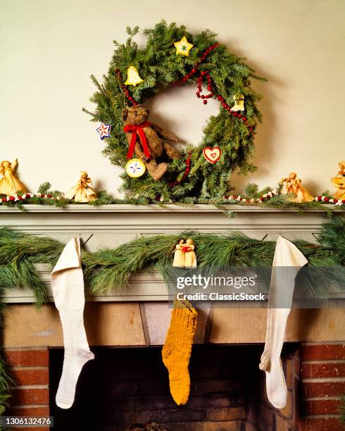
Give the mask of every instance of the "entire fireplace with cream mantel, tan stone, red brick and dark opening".
<path id="1" fill-rule="evenodd" d="M 229 228 L 263 240 L 275 240 L 282 234 L 287 239 L 315 242 L 326 218 L 324 210 L 301 214 L 291 208 L 228 209 L 236 212 L 236 217 L 227 218 L 218 208 L 202 205 L 137 206 L 135 211 L 125 205 L 27 206 L 26 213 L 1 207 L 0 224 L 61 242 L 78 235 L 87 249 L 95 251 L 118 246 L 137 235 L 181 230 L 222 233 Z M 51 292 L 51 268 L 37 269 Z M 264 373 L 258 369 L 266 310 L 199 311 L 191 360 L 191 398 L 186 406 L 177 407 L 161 361 L 171 312 L 166 299 L 165 284 L 154 271 L 133 277 L 126 291 L 114 289 L 87 296 L 85 326 L 96 359 L 82 371 L 75 406 L 61 411 L 54 397 L 63 339 L 52 297 L 37 312 L 30 304 L 33 295 L 29 289 L 7 292 L 3 344 L 16 382 L 8 413 L 50 414 L 56 418 L 54 429 L 66 431 L 125 431 L 131 424 L 151 422 L 168 431 L 341 430 L 337 410 L 339 396 L 345 392 L 343 309 L 291 311 L 283 351 L 289 397 L 287 407 L 280 411 L 268 403 Z M 101 420 L 97 425 L 92 422 L 96 416 Z"/>

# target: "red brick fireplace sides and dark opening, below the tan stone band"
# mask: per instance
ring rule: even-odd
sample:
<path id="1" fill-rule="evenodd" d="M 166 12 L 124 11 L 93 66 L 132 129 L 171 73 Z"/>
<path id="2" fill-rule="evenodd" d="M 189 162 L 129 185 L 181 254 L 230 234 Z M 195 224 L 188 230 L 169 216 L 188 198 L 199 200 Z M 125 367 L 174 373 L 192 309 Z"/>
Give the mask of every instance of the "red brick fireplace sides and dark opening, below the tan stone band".
<path id="1" fill-rule="evenodd" d="M 345 344 L 284 346 L 289 396 L 280 411 L 265 396 L 264 375 L 258 370 L 262 349 L 262 344 L 194 346 L 191 396 L 186 406 L 177 407 L 161 348 L 96 347 L 96 358 L 84 367 L 75 405 L 68 411 L 54 401 L 63 350 L 7 349 L 6 361 L 17 383 L 8 414 L 50 414 L 54 429 L 64 431 L 125 431 L 152 422 L 169 431 L 342 430 L 337 412 L 345 392 Z"/>

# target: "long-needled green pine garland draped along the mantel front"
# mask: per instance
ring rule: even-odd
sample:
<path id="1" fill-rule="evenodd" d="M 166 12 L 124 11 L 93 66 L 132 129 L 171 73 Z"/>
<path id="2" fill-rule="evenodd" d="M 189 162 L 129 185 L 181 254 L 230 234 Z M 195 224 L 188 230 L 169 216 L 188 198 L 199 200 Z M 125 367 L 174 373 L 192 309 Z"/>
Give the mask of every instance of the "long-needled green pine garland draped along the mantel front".
<path id="1" fill-rule="evenodd" d="M 175 244 L 180 237 L 194 239 L 199 268 L 271 266 L 275 252 L 275 242 L 263 242 L 234 232 L 225 235 L 184 232 L 180 235 L 140 237 L 116 249 L 94 253 L 82 250 L 82 268 L 89 291 L 99 294 L 128 287 L 131 275 L 149 268 L 156 268 L 166 280 Z M 319 246 L 303 241 L 295 244 L 317 273 L 313 279 L 304 280 L 304 287 L 314 297 L 325 299 L 330 277 L 327 272 L 325 275 L 324 268 L 332 273 L 332 282 L 344 289 L 345 218 L 334 216 L 322 225 L 318 242 Z M 54 266 L 63 247 L 64 244 L 55 239 L 0 229 L 0 294 L 4 295 L 6 289 L 30 287 L 35 293 L 37 306 L 42 306 L 47 292 L 35 264 Z M 0 325 L 3 308 L 0 301 Z M 11 377 L 6 372 L 4 360 L 0 359 L 0 414 L 6 407 L 10 385 Z"/>

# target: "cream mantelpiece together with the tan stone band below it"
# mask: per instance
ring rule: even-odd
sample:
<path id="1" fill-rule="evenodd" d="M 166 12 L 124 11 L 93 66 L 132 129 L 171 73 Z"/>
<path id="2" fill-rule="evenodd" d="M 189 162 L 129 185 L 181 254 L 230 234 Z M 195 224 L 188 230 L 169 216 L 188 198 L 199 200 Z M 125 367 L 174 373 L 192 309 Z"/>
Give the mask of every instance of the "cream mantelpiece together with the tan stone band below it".
<path id="1" fill-rule="evenodd" d="M 31 235 L 52 237 L 63 243 L 77 235 L 89 251 L 113 248 L 139 235 L 191 230 L 216 234 L 236 230 L 264 241 L 284 235 L 287 239 L 316 243 L 320 225 L 327 220 L 327 211 L 342 212 L 333 205 L 303 213 L 296 208 L 242 205 L 227 205 L 222 209 L 212 205 L 68 205 L 65 208 L 26 205 L 25 210 L 20 212 L 17 208 L 0 206 L 0 225 Z M 38 270 L 52 300 L 49 285 L 51 268 L 39 266 Z M 84 318 L 90 344 L 163 344 L 171 311 L 166 299 L 165 283 L 154 271 L 135 275 L 130 280 L 130 287 L 123 291 L 114 286 L 108 294 L 88 296 Z M 30 289 L 7 291 L 4 301 L 8 303 L 4 316 L 6 347 L 63 345 L 54 304 L 46 304 L 37 312 L 30 304 L 34 301 Z M 341 308 L 295 308 L 291 311 L 286 339 L 294 342 L 343 339 L 344 317 Z M 195 342 L 263 342 L 265 321 L 264 308 L 215 308 L 209 313 L 199 310 L 199 332 Z"/>

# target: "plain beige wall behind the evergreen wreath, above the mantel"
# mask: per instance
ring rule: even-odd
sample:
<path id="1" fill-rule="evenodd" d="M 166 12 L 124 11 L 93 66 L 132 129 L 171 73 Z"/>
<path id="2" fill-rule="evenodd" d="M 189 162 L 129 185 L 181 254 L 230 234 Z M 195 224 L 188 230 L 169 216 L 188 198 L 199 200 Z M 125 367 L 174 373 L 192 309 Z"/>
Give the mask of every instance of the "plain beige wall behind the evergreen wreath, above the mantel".
<path id="1" fill-rule="evenodd" d="M 275 185 L 291 170 L 311 192 L 332 189 L 329 177 L 345 158 L 344 16 L 343 0 L 0 0 L 0 158 L 19 158 L 32 191 L 45 180 L 68 189 L 88 170 L 97 187 L 118 195 L 120 168 L 103 158 L 96 125 L 81 111 L 92 109 L 89 75 L 107 71 L 126 25 L 165 18 L 218 32 L 268 78 L 255 83 L 264 96 L 259 169 L 236 178 L 239 189 Z M 218 104 L 203 106 L 195 90 L 170 89 L 151 108 L 159 123 L 197 143 Z"/>

